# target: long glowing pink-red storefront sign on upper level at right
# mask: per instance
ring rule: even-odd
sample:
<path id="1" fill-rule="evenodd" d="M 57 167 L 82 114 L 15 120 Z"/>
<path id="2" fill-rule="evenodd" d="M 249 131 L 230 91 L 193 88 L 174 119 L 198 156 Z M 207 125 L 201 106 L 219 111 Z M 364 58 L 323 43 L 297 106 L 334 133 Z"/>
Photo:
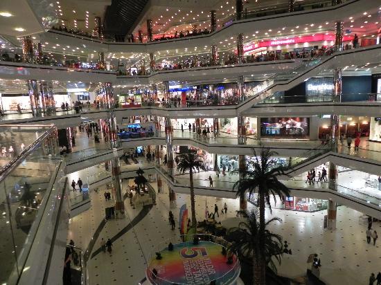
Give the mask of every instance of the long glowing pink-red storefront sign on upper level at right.
<path id="1" fill-rule="evenodd" d="M 353 39 L 353 36 L 344 36 L 343 42 L 348 42 Z M 254 50 L 256 48 L 264 48 L 269 46 L 285 46 L 287 44 L 304 44 L 308 42 L 324 42 L 335 41 L 335 35 L 315 34 L 315 35 L 303 35 L 298 37 L 289 37 L 285 39 L 274 39 L 271 41 L 263 41 L 253 44 L 248 44 L 243 47 L 245 52 Z"/>

